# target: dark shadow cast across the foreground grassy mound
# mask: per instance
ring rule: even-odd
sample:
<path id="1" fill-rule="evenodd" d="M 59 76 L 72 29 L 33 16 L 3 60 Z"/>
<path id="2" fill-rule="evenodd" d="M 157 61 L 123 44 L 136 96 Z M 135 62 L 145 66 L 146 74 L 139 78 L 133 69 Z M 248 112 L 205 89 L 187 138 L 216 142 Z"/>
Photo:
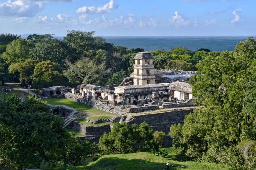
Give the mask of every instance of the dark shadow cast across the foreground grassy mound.
<path id="1" fill-rule="evenodd" d="M 179 164 L 171 164 L 171 169 L 180 169 Z M 152 162 L 141 159 L 122 159 L 118 157 L 101 158 L 90 166 L 80 166 L 81 170 L 105 170 L 105 169 L 122 169 L 122 170 L 163 170 L 166 169 L 166 162 Z M 185 168 L 185 167 L 182 167 Z"/>

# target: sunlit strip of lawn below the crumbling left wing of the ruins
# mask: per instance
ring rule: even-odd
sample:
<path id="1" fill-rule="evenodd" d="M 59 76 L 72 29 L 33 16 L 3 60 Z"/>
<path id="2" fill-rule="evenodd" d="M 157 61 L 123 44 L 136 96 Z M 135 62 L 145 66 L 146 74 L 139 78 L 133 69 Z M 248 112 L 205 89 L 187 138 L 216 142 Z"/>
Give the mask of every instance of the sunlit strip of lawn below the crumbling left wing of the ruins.
<path id="1" fill-rule="evenodd" d="M 78 105 L 78 102 L 73 101 L 73 100 L 69 100 L 69 99 L 65 99 L 65 98 L 61 98 L 61 99 L 45 99 L 44 101 L 46 101 L 47 103 L 51 104 L 51 105 L 66 105 L 69 106 L 71 108 L 74 108 L 78 111 L 85 111 L 85 113 L 87 114 L 87 116 L 93 120 L 95 120 L 95 117 L 97 118 L 112 118 L 114 116 L 116 116 L 115 114 L 103 111 L 103 110 L 99 110 L 96 109 L 94 107 L 90 107 L 84 104 L 80 104 Z M 98 119 L 97 118 L 97 119 Z"/>

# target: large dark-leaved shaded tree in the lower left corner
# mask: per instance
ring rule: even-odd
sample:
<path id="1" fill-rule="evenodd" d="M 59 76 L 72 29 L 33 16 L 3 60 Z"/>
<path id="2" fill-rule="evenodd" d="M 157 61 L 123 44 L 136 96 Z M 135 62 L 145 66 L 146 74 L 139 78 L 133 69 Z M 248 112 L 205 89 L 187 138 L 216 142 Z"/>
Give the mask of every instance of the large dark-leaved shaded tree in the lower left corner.
<path id="1" fill-rule="evenodd" d="M 29 96 L 18 101 L 12 95 L 0 101 L 0 164 L 11 170 L 55 163 L 63 155 L 68 133 L 60 116 L 49 112 L 45 102 Z"/>

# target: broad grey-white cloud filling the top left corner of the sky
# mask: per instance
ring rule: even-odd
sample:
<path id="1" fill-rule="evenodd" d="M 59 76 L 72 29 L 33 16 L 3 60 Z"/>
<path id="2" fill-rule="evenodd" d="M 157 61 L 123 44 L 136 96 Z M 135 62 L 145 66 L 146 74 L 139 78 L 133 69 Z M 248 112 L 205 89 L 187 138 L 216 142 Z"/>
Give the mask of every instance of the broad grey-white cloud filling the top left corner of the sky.
<path id="1" fill-rule="evenodd" d="M 25 0 L 8 0 L 0 4 L 0 16 L 33 17 L 38 11 L 43 9 L 41 2 Z"/>

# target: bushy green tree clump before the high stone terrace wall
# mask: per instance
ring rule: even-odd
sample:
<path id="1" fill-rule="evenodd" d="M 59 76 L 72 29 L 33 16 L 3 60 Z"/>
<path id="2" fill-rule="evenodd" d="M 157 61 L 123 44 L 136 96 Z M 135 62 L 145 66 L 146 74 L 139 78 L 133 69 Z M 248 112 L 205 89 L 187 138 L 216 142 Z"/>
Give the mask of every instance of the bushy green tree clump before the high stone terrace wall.
<path id="1" fill-rule="evenodd" d="M 158 145 L 153 142 L 152 131 L 145 122 L 139 127 L 115 122 L 112 132 L 104 133 L 100 138 L 99 148 L 105 154 L 155 151 Z"/>

